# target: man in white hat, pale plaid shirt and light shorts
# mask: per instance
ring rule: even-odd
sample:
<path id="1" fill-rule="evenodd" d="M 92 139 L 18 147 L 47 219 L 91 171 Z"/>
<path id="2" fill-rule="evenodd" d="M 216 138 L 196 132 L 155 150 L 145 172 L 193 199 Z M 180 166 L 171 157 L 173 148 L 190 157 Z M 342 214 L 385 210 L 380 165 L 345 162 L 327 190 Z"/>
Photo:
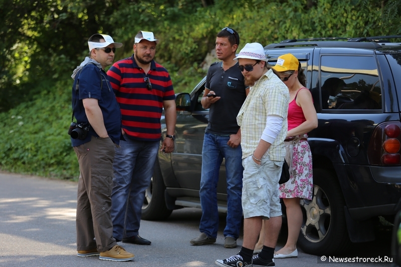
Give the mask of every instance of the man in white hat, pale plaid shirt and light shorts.
<path id="1" fill-rule="evenodd" d="M 237 116 L 241 126 L 244 166 L 242 208 L 244 242 L 237 255 L 216 260 L 219 266 L 275 266 L 274 248 L 281 228 L 279 180 L 284 162 L 289 93 L 286 85 L 266 66 L 259 43 L 246 44 L 238 57 L 250 93 Z M 252 258 L 265 220 L 262 251 Z"/>

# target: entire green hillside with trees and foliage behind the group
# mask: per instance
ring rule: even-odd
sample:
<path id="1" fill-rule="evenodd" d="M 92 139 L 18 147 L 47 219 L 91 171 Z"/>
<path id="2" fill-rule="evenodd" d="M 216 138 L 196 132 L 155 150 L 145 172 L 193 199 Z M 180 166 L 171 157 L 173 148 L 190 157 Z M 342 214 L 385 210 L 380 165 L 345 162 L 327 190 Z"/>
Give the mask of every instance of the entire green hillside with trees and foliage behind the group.
<path id="1" fill-rule="evenodd" d="M 79 174 L 67 135 L 70 75 L 94 33 L 124 43 L 119 60 L 132 54 L 138 31 L 154 32 L 156 61 L 176 92 L 206 74 L 203 61 L 224 27 L 239 32 L 239 49 L 401 34 L 398 0 L 0 0 L 0 14 L 0 168 L 67 178 Z"/>

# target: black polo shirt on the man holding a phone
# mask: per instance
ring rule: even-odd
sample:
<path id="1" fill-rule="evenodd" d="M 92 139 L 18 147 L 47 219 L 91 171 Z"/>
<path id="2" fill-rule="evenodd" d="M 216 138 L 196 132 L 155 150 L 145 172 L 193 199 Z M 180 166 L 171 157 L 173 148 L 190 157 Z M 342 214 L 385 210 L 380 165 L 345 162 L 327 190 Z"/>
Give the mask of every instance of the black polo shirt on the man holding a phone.
<path id="1" fill-rule="evenodd" d="M 236 65 L 223 70 L 223 62 L 209 68 L 205 87 L 214 91 L 220 100 L 210 106 L 209 124 L 206 132 L 217 135 L 236 134 L 240 129 L 237 115 L 247 97 L 244 76 Z"/>

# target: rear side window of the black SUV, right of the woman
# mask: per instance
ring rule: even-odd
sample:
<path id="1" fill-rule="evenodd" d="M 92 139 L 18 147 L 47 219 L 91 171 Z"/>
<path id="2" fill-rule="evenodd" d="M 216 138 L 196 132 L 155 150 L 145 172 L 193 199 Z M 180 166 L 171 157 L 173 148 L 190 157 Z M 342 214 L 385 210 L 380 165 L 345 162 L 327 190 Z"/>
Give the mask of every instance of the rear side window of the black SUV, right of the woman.
<path id="1" fill-rule="evenodd" d="M 381 86 L 372 56 L 322 56 L 322 109 L 381 109 Z"/>

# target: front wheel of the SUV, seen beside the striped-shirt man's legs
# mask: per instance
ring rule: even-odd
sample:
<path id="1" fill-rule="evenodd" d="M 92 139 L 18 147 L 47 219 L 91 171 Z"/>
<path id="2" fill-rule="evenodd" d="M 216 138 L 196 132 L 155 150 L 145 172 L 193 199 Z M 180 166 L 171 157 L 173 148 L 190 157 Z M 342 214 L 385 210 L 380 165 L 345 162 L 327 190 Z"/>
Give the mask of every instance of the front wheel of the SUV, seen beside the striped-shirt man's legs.
<path id="1" fill-rule="evenodd" d="M 161 176 L 159 161 L 156 159 L 150 185 L 145 191 L 145 199 L 142 205 L 142 219 L 162 220 L 171 214 L 172 210 L 166 206 L 164 191 L 165 186 Z"/>

